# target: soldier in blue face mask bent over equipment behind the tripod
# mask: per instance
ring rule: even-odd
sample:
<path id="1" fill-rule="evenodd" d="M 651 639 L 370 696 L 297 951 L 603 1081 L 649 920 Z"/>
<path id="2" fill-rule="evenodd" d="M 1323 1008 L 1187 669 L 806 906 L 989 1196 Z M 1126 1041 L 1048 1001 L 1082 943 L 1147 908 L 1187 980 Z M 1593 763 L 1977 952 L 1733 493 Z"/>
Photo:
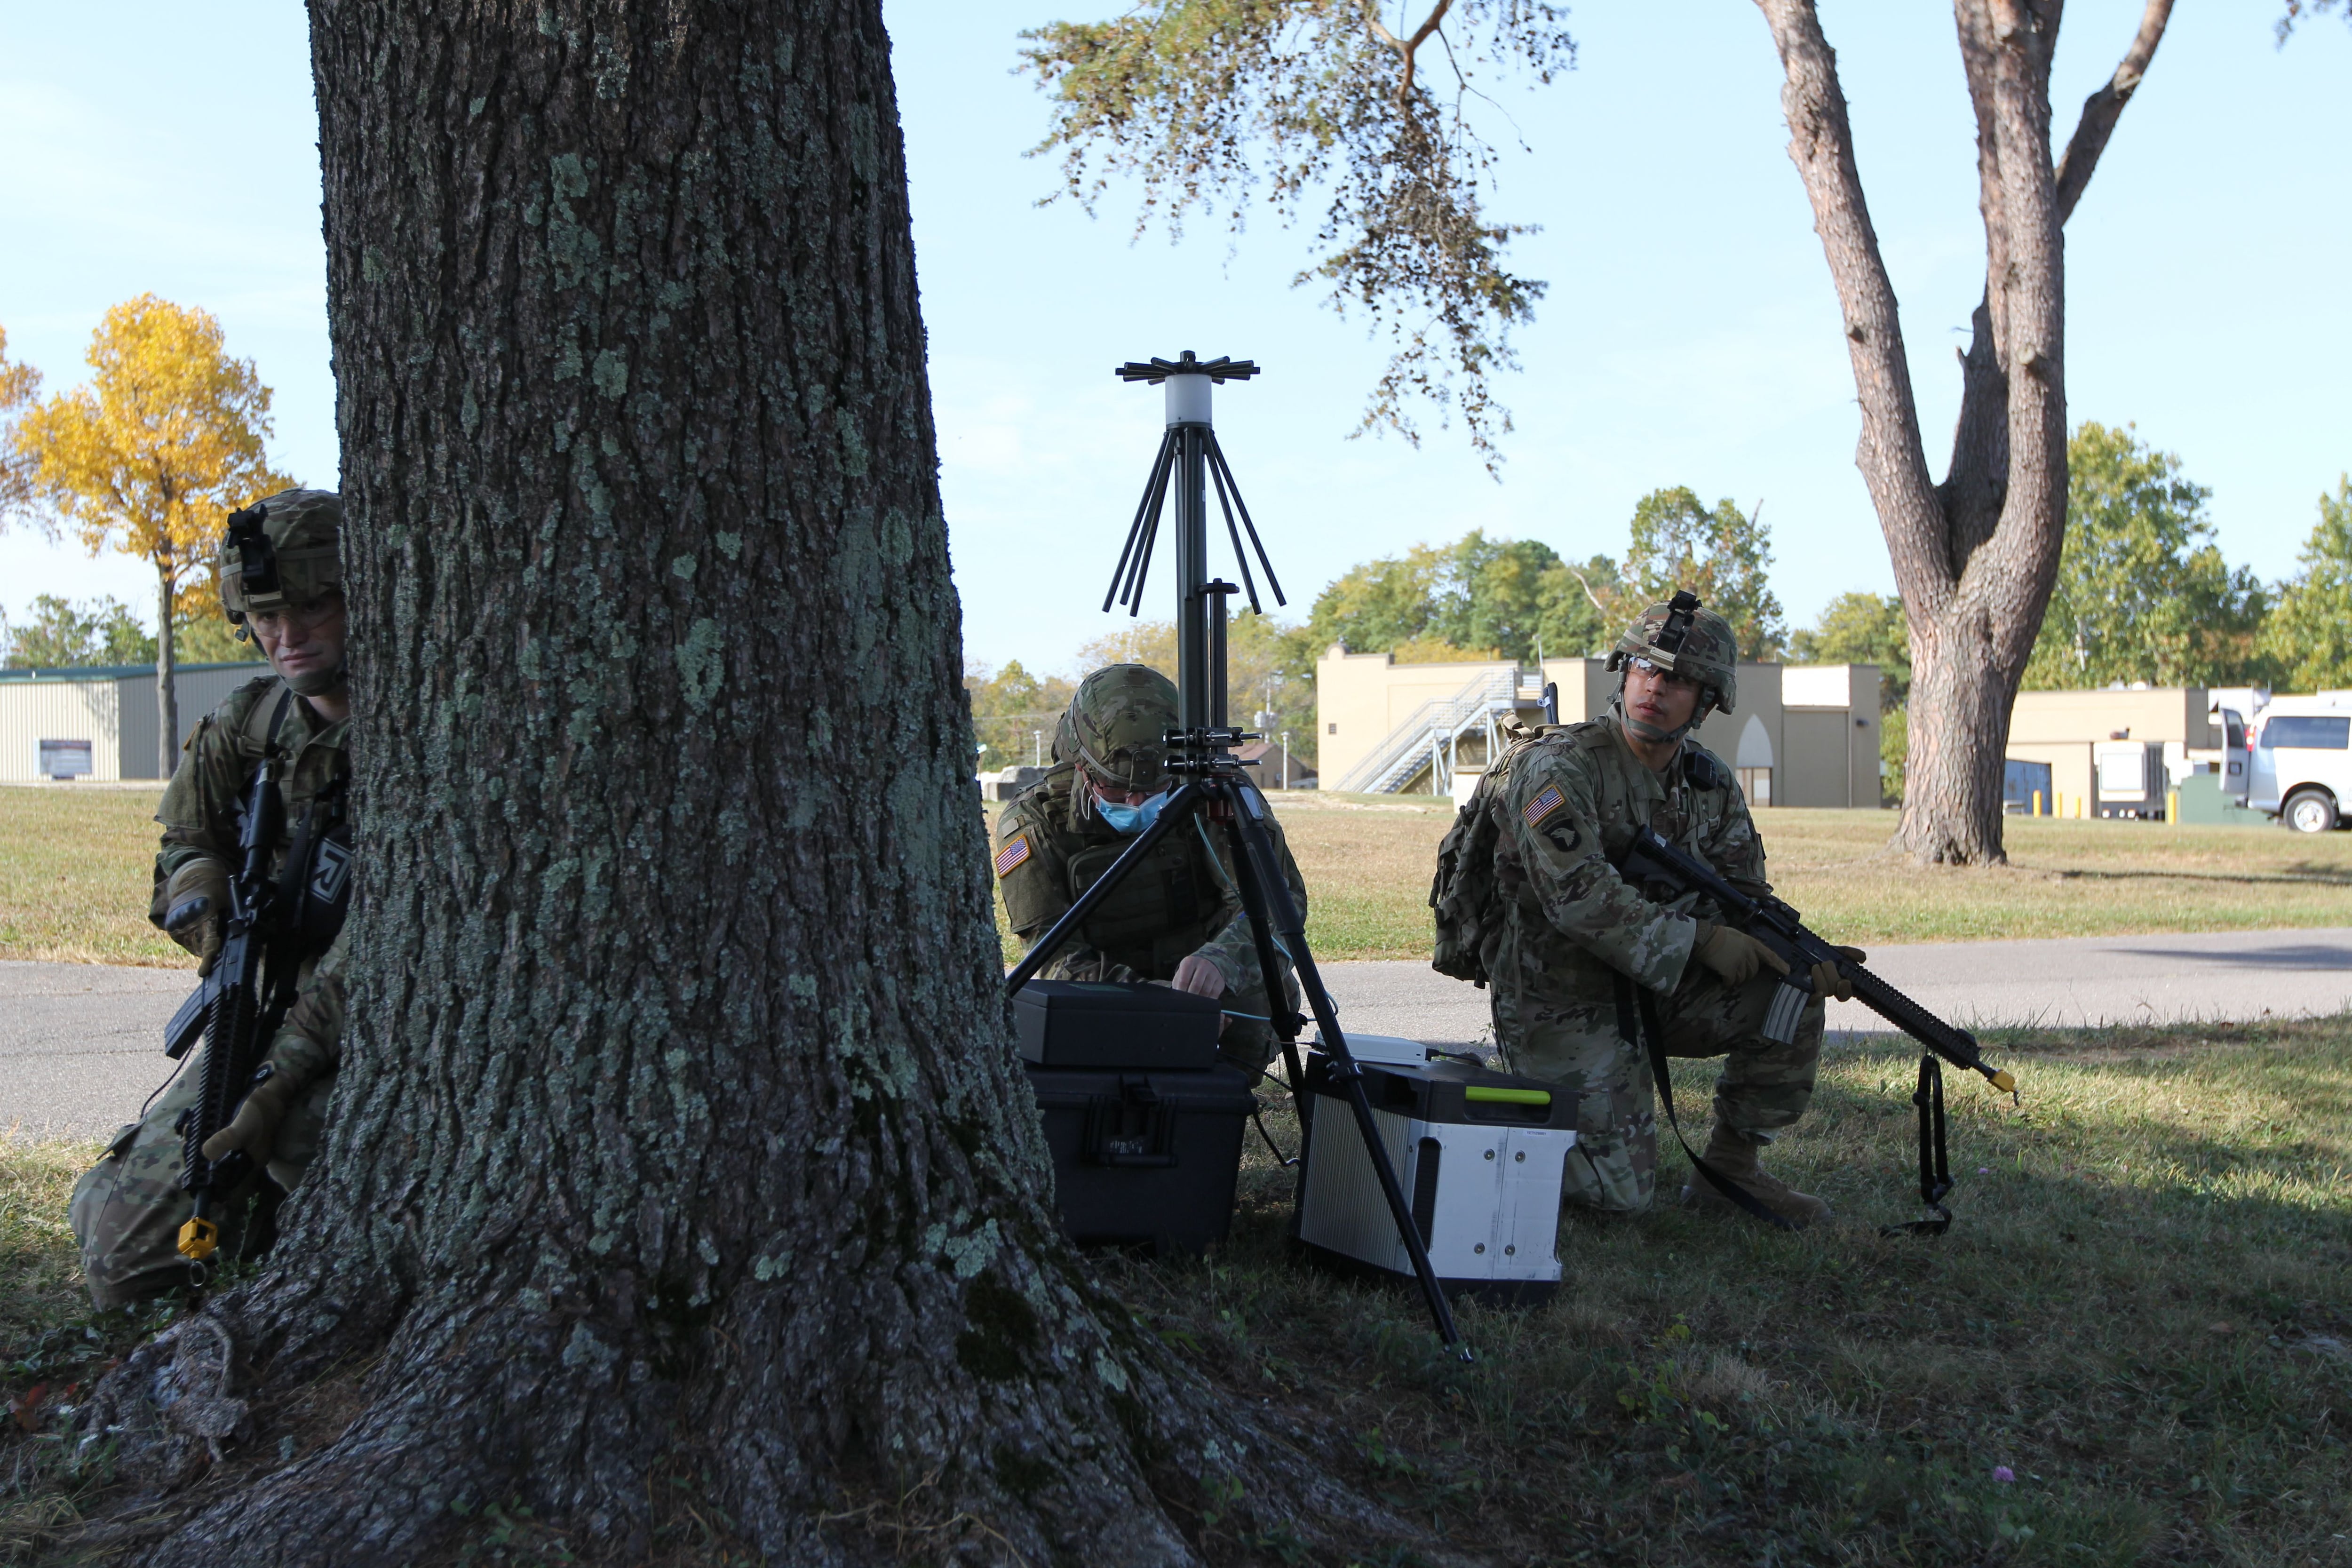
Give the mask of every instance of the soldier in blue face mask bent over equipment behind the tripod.
<path id="1" fill-rule="evenodd" d="M 997 818 L 997 889 L 1021 940 L 1044 936 L 1160 813 L 1169 790 L 1162 736 L 1174 726 L 1176 686 L 1157 670 L 1110 665 L 1080 682 L 1054 731 L 1054 766 Z M 1279 825 L 1275 846 L 1303 912 L 1308 889 Z M 1277 1046 L 1225 839 L 1200 816 L 1160 839 L 1054 954 L 1044 978 L 1169 980 L 1223 999 L 1221 1051 L 1242 1067 L 1265 1067 Z M 1284 992 L 1296 1009 L 1289 966 Z"/>

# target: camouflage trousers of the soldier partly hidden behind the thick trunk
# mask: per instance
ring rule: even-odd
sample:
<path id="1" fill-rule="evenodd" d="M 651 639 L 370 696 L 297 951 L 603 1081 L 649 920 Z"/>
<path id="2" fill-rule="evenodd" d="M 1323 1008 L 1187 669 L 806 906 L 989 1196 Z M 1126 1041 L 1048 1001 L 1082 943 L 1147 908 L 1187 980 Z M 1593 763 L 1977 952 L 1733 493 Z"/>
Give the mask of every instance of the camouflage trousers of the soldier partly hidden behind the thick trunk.
<path id="1" fill-rule="evenodd" d="M 195 1284 L 188 1260 L 179 1255 L 179 1227 L 195 1213 L 195 1199 L 179 1185 L 183 1145 L 176 1124 L 195 1110 L 202 1086 L 205 1053 L 193 1051 L 155 1105 L 118 1131 L 99 1164 L 73 1185 L 73 1239 L 82 1248 L 89 1300 L 101 1309 Z M 278 1126 L 268 1175 L 256 1171 L 216 1206 L 223 1262 L 268 1251 L 275 1199 L 301 1180 L 318 1154 L 332 1088 L 332 1072 L 310 1084 Z"/>

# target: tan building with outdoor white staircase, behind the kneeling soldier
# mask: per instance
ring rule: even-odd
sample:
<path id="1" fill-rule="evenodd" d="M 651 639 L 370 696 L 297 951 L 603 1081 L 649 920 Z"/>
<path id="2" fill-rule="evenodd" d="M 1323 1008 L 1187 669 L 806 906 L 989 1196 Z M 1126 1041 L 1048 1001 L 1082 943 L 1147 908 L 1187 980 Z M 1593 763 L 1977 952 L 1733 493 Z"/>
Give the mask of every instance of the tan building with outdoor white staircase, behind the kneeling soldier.
<path id="1" fill-rule="evenodd" d="M 1559 686 L 1559 719 L 1599 717 L 1616 696 L 1599 658 L 1399 665 L 1331 644 L 1315 665 L 1317 766 L 1327 790 L 1468 797 L 1512 712 Z M 1738 708 L 1698 741 L 1738 769 L 1757 806 L 1879 804 L 1877 665 L 1740 665 Z"/>

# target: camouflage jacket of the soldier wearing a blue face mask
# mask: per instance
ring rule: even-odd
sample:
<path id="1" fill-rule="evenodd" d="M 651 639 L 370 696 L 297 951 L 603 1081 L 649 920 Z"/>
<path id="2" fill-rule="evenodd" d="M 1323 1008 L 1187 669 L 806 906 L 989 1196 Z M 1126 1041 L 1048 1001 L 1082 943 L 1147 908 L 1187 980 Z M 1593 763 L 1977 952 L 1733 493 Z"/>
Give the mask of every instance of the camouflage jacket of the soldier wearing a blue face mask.
<path id="1" fill-rule="evenodd" d="M 1035 943 L 1120 858 L 1131 837 L 1080 813 L 1077 769 L 1047 771 L 997 818 L 997 889 L 1014 933 Z M 1077 785 L 1082 788 L 1082 785 Z M 1272 816 L 1268 816 L 1272 820 Z M 1275 823 L 1282 877 L 1301 914 L 1308 886 Z M 1190 954 L 1225 978 L 1228 992 L 1258 990 L 1258 950 L 1242 919 L 1242 896 L 1223 832 L 1195 816 L 1176 825 L 1152 858 L 1136 867 L 1047 966 L 1049 978 L 1167 980 Z M 1124 969 L 1129 976 L 1120 976 Z"/>

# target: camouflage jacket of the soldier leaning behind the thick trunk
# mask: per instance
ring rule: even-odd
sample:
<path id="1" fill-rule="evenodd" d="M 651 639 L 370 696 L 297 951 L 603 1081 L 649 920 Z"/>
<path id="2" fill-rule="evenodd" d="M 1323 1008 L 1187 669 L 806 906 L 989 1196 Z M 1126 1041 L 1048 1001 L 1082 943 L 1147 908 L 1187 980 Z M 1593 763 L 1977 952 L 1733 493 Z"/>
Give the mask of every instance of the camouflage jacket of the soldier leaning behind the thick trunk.
<path id="1" fill-rule="evenodd" d="M 155 889 L 148 919 L 165 922 L 165 884 L 188 860 L 209 856 L 235 875 L 238 806 L 261 757 L 275 752 L 282 762 L 278 790 L 285 797 L 285 827 L 270 853 L 270 872 L 285 870 L 294 849 L 294 830 L 310 804 L 348 773 L 350 724 L 327 722 L 275 675 L 249 679 L 228 693 L 188 731 L 179 769 L 162 792 L 155 820 L 162 823 L 162 849 L 155 853 Z M 310 964 L 303 964 L 308 973 Z"/>

